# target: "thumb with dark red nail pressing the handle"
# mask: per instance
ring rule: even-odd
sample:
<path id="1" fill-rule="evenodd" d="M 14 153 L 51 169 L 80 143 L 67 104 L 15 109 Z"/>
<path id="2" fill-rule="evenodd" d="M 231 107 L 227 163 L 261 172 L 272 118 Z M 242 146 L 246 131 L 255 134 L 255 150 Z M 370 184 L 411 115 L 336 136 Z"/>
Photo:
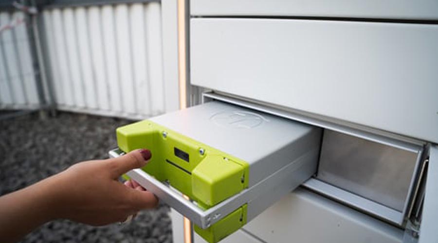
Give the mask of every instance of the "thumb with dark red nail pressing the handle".
<path id="1" fill-rule="evenodd" d="M 110 159 L 113 168 L 112 177 L 117 178 L 132 169 L 145 166 L 151 157 L 150 150 L 136 149 L 124 156 Z"/>

